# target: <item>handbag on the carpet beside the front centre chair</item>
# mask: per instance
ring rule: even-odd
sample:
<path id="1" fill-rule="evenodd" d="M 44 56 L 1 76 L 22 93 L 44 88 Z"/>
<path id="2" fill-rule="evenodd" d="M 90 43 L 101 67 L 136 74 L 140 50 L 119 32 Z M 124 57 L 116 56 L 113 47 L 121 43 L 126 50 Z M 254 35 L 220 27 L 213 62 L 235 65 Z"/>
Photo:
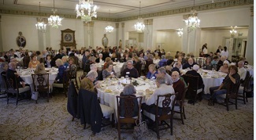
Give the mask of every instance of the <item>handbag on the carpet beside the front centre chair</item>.
<path id="1" fill-rule="evenodd" d="M 139 124 L 137 123 L 139 120 Z M 135 120 L 135 124 L 136 126 L 134 127 L 134 130 L 133 130 L 133 137 L 135 139 L 139 139 L 139 137 L 143 136 L 145 132 L 148 131 L 147 129 L 147 123 L 146 121 L 141 121 L 141 116 L 139 115 L 139 119 Z"/>

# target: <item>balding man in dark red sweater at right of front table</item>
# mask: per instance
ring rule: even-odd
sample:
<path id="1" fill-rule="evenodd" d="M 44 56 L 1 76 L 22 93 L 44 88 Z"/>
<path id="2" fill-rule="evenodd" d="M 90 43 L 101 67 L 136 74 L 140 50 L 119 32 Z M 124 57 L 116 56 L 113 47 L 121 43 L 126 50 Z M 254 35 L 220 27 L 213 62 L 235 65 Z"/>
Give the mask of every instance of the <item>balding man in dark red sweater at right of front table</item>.
<path id="1" fill-rule="evenodd" d="M 172 79 L 173 79 L 174 91 L 178 92 L 176 100 L 180 100 L 182 98 L 182 94 L 184 93 L 184 89 L 185 89 L 184 81 L 180 80 L 180 74 L 177 71 L 173 71 Z"/>

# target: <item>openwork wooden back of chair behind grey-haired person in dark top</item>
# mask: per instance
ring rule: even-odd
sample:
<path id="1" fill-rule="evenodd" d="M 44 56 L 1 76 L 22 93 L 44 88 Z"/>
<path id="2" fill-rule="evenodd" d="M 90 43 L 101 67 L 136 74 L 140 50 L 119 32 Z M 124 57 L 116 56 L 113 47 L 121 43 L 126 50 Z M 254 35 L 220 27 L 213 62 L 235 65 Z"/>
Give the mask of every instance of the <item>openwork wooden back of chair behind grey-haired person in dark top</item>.
<path id="1" fill-rule="evenodd" d="M 124 118 L 132 119 L 134 117 L 134 109 L 135 109 L 135 100 L 138 101 L 138 106 L 140 110 L 142 96 L 135 97 L 135 96 L 119 96 L 117 95 L 117 119 L 120 119 L 121 112 L 124 111 Z M 123 102 L 123 103 L 121 103 Z M 123 106 L 121 106 L 121 104 Z M 124 109 L 124 110 L 122 110 Z M 140 111 L 138 110 L 138 118 L 140 117 Z"/>

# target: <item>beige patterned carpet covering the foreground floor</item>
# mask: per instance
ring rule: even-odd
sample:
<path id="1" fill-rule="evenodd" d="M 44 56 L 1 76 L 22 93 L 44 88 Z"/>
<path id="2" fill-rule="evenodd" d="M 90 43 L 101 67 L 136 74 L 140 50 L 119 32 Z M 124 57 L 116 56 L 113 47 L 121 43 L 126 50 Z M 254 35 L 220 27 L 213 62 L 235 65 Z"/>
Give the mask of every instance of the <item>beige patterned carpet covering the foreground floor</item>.
<path id="1" fill-rule="evenodd" d="M 117 129 L 105 127 L 92 136 L 91 128 L 83 130 L 79 120 L 72 120 L 66 109 L 65 95 L 55 95 L 46 102 L 40 99 L 23 100 L 15 106 L 15 100 L 0 99 L 0 139 L 117 139 Z M 208 106 L 206 100 L 195 106 L 186 104 L 185 124 L 173 120 L 173 135 L 161 131 L 161 139 L 253 139 L 254 104 L 239 102 L 239 109 L 231 106 Z M 132 139 L 132 131 L 121 133 L 123 139 Z M 157 139 L 156 133 L 148 131 L 142 139 Z"/>

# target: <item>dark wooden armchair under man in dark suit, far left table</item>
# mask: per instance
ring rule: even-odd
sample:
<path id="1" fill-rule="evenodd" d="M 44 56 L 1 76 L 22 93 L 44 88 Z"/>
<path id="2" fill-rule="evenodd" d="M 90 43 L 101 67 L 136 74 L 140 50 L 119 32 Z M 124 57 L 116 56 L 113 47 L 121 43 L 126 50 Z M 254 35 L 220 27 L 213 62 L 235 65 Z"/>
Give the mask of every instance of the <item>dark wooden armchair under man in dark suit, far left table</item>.
<path id="1" fill-rule="evenodd" d="M 14 82 L 16 82 L 16 85 L 18 85 L 18 80 L 16 77 L 15 77 L 15 81 L 13 81 L 13 79 L 6 77 L 6 74 L 2 74 L 2 78 L 6 83 L 7 104 L 9 103 L 9 94 L 16 95 L 16 106 L 17 106 L 18 102 L 24 99 L 20 97 L 21 93 L 25 93 L 25 92 L 31 93 L 29 86 L 25 86 L 24 88 L 18 88 L 18 86 L 16 87 L 13 86 Z"/>

